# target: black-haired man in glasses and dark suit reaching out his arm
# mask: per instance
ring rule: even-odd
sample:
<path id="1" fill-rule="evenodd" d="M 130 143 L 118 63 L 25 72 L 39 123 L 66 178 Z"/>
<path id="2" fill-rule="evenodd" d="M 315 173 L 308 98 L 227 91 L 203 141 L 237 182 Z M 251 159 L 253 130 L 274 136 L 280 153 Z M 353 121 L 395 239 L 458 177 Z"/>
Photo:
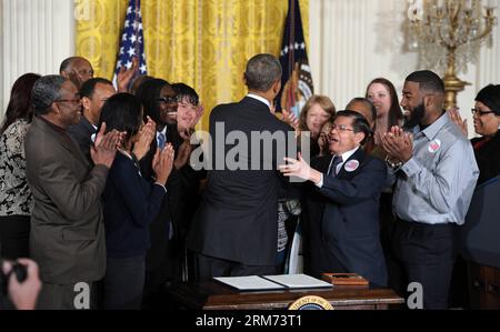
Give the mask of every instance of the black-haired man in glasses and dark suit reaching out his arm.
<path id="1" fill-rule="evenodd" d="M 287 158 L 284 175 L 309 180 L 303 209 L 310 273 L 353 272 L 378 285 L 387 284 L 386 261 L 379 237 L 379 198 L 386 164 L 364 153 L 371 137 L 363 115 L 339 111 L 329 133 L 330 155 L 312 168 L 299 155 Z"/>

